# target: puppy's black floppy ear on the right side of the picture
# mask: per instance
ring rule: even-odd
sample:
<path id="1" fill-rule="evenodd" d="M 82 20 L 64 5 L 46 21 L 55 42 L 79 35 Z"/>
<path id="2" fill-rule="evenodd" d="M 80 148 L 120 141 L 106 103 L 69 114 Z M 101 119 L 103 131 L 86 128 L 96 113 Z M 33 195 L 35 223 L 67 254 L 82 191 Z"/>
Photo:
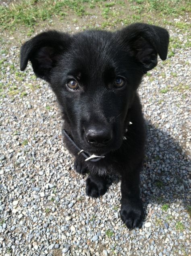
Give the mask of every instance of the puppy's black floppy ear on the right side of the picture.
<path id="1" fill-rule="evenodd" d="M 162 27 L 134 23 L 120 31 L 122 44 L 134 56 L 144 73 L 157 65 L 157 54 L 163 61 L 167 57 L 169 34 Z"/>

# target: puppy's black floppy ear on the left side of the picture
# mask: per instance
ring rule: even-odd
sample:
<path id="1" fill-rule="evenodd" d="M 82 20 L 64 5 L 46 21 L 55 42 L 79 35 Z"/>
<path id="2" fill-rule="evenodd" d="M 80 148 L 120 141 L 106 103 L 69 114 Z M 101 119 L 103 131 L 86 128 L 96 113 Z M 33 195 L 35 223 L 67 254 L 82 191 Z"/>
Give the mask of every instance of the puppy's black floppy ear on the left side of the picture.
<path id="1" fill-rule="evenodd" d="M 70 36 L 55 30 L 43 32 L 21 46 L 21 71 L 30 60 L 36 76 L 49 82 L 50 71 L 70 44 Z"/>

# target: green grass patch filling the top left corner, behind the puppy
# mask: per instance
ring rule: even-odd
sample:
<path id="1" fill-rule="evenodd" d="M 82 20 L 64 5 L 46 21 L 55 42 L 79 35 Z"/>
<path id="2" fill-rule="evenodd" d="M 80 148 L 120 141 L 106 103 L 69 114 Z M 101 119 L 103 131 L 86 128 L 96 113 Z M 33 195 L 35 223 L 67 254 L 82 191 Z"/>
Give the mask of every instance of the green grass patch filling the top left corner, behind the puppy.
<path id="1" fill-rule="evenodd" d="M 88 0 L 23 0 L 0 6 L 0 28 L 17 28 L 19 25 L 33 27 L 38 22 L 50 20 L 53 15 L 66 16 L 73 10 L 81 16 L 85 13 L 84 3 Z"/>

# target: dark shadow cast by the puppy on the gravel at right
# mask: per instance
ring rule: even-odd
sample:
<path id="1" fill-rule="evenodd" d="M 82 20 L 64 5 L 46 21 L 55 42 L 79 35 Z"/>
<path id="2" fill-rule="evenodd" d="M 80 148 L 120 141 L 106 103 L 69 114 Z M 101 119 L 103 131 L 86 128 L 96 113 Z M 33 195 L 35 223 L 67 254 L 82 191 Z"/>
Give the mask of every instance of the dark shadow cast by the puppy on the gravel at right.
<path id="1" fill-rule="evenodd" d="M 166 132 L 146 122 L 145 160 L 140 176 L 143 207 L 148 204 L 167 205 L 179 201 L 185 210 L 190 206 L 189 155 Z M 119 181 L 118 176 L 111 177 Z M 147 210 L 148 213 L 148 210 Z"/>

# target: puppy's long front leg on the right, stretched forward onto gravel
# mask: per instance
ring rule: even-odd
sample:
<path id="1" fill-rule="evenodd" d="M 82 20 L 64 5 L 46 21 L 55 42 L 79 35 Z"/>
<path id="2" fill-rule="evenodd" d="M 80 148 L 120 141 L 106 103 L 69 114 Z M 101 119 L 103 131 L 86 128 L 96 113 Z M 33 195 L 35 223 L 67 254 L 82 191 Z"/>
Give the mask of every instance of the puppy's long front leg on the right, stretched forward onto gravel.
<path id="1" fill-rule="evenodd" d="M 139 197 L 139 170 L 122 174 L 121 218 L 129 229 L 139 227 L 143 220 L 143 206 Z"/>

